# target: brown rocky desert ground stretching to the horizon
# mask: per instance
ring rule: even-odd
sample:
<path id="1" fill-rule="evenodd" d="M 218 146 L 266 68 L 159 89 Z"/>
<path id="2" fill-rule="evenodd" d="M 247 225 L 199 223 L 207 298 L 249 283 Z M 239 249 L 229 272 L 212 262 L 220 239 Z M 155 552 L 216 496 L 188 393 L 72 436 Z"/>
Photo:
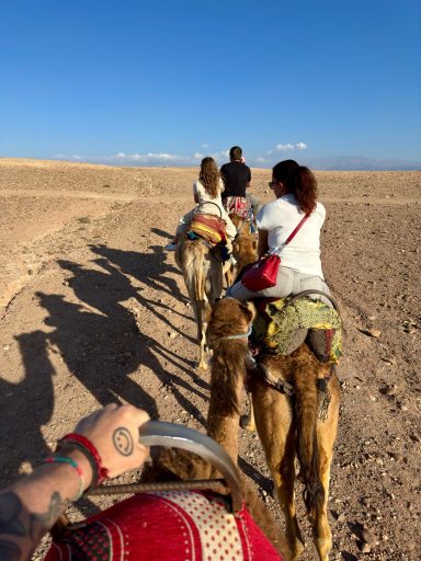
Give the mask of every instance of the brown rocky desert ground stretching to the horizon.
<path id="1" fill-rule="evenodd" d="M 209 375 L 195 369 L 192 310 L 173 253 L 163 250 L 192 206 L 196 173 L 0 159 L 1 486 L 110 402 L 205 431 Z M 252 175 L 251 192 L 269 201 L 270 171 Z M 328 211 L 323 267 L 345 325 L 331 559 L 414 561 L 421 172 L 317 179 Z M 255 435 L 241 433 L 239 466 L 280 516 Z M 299 505 L 303 559 L 311 560 Z M 95 508 L 83 500 L 70 514 Z"/>

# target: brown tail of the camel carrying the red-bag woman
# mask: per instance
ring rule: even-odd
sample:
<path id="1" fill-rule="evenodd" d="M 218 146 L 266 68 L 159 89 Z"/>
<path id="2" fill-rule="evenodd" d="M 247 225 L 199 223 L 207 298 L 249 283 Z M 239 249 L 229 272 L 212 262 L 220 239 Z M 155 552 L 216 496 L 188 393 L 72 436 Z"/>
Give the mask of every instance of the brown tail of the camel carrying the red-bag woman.
<path id="1" fill-rule="evenodd" d="M 296 377 L 295 414 L 297 420 L 297 457 L 300 479 L 305 485 L 303 497 L 310 518 L 323 508 L 325 489 L 320 480 L 320 458 L 317 443 L 318 390 L 316 379 L 303 369 Z"/>

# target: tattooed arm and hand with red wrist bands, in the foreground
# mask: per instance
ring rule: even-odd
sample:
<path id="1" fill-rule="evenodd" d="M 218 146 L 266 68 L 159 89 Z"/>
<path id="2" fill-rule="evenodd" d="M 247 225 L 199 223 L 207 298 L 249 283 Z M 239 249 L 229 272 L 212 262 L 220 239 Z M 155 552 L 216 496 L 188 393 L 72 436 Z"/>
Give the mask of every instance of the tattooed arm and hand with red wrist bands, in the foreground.
<path id="1" fill-rule="evenodd" d="M 109 476 L 116 477 L 147 458 L 138 431 L 148 419 L 132 405 L 112 404 L 83 419 L 75 432 L 92 443 Z M 0 493 L 0 559 L 30 559 L 68 504 L 91 484 L 91 463 L 82 451 L 69 444 L 57 457 L 70 462 L 42 465 Z"/>

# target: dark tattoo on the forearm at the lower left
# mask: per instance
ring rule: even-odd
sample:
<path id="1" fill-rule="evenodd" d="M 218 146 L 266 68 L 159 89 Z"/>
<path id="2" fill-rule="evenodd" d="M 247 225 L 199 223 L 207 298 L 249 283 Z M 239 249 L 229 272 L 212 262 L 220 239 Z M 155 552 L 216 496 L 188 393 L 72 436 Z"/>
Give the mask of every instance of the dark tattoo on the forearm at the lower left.
<path id="1" fill-rule="evenodd" d="M 58 491 L 54 491 L 49 506 L 45 513 L 31 513 L 22 504 L 20 497 L 12 491 L 0 494 L 0 559 L 18 561 L 22 559 L 21 540 L 29 540 L 31 550 L 39 538 L 48 530 L 68 502 L 64 501 Z"/>

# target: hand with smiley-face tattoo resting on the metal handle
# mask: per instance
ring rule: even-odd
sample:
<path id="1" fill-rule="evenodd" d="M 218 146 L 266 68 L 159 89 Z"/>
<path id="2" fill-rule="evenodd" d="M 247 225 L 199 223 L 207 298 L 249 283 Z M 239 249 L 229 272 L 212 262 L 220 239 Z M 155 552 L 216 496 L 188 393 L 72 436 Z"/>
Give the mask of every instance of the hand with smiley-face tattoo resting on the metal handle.
<path id="1" fill-rule="evenodd" d="M 140 468 L 148 458 L 149 448 L 139 440 L 139 427 L 147 421 L 149 415 L 141 409 L 112 403 L 82 419 L 75 432 L 91 440 L 114 478 Z"/>

